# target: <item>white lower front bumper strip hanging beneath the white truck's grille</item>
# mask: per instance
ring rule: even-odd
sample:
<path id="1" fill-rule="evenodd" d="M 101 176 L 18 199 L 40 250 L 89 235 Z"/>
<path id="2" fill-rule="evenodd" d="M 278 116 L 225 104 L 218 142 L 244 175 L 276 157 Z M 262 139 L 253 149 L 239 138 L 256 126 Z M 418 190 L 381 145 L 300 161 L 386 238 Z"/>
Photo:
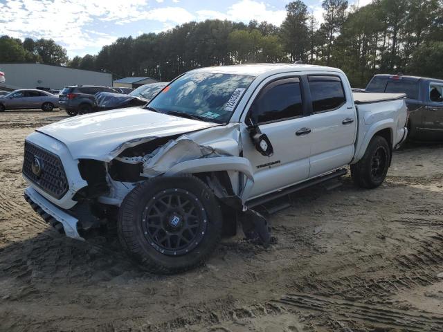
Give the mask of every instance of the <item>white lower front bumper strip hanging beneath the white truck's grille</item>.
<path id="1" fill-rule="evenodd" d="M 44 196 L 39 194 L 33 187 L 27 187 L 25 189 L 24 196 L 31 208 L 40 214 L 44 221 L 51 223 L 51 225 L 53 225 L 53 227 L 57 230 L 61 230 L 61 224 L 67 237 L 77 240 L 84 240 L 82 237 L 80 237 L 80 234 L 78 234 L 78 219 L 64 212 L 64 210 L 58 208 L 56 205 L 45 199 Z"/>

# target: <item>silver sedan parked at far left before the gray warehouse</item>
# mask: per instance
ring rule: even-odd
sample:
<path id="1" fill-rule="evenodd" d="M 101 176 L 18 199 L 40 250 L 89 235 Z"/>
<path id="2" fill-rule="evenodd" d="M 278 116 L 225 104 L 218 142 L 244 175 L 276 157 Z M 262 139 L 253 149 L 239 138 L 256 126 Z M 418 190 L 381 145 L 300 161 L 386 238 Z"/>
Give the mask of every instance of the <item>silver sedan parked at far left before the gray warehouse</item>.
<path id="1" fill-rule="evenodd" d="M 58 95 L 42 90 L 15 90 L 0 96 L 0 112 L 6 109 L 42 109 L 52 111 L 58 107 Z"/>

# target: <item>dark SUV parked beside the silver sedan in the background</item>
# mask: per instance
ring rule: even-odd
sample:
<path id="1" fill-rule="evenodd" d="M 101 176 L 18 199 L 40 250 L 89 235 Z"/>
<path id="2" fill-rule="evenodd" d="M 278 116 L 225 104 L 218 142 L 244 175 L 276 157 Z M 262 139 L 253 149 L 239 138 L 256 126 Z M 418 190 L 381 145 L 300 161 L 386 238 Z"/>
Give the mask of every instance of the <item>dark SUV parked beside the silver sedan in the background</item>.
<path id="1" fill-rule="evenodd" d="M 96 107 L 95 95 L 98 92 L 116 93 L 107 86 L 66 86 L 59 95 L 60 109 L 64 109 L 69 116 L 91 113 Z"/>

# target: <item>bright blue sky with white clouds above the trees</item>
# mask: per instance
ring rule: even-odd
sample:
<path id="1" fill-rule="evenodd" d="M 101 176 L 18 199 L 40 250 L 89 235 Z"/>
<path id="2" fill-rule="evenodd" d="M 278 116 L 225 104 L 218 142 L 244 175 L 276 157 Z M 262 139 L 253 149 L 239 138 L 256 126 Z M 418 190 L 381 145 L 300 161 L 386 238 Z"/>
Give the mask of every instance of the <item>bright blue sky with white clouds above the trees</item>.
<path id="1" fill-rule="evenodd" d="M 96 54 L 118 37 L 159 33 L 188 21 L 252 19 L 280 26 L 291 0 L 0 0 L 0 35 L 54 39 L 69 57 Z M 321 0 L 305 0 L 323 21 Z M 364 6 L 370 0 L 349 0 Z"/>

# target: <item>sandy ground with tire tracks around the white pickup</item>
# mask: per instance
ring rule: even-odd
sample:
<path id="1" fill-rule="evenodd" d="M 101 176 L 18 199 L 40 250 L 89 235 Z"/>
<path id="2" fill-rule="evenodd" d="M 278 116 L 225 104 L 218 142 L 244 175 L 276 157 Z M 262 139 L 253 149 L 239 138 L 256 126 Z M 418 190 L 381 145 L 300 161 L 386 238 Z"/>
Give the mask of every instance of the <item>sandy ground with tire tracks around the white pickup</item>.
<path id="1" fill-rule="evenodd" d="M 298 192 L 269 217 L 271 248 L 225 239 L 159 276 L 22 198 L 24 138 L 60 116 L 0 113 L 0 331 L 443 331 L 443 145 L 396 152 L 377 190 Z"/>

